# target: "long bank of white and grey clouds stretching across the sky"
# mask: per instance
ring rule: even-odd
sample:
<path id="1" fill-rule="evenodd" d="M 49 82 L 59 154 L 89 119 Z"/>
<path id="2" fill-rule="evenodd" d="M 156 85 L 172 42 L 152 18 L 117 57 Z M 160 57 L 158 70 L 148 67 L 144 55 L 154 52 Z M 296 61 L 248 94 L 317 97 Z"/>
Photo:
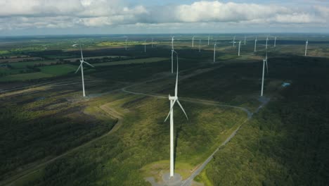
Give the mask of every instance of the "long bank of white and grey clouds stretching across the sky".
<path id="1" fill-rule="evenodd" d="M 314 26 L 314 23 L 327 23 L 328 17 L 329 8 L 316 4 L 309 8 L 298 8 L 297 5 L 288 7 L 278 3 L 195 1 L 192 4 L 131 6 L 120 0 L 0 0 L 0 30 L 117 25 L 154 27 L 167 23 Z"/>

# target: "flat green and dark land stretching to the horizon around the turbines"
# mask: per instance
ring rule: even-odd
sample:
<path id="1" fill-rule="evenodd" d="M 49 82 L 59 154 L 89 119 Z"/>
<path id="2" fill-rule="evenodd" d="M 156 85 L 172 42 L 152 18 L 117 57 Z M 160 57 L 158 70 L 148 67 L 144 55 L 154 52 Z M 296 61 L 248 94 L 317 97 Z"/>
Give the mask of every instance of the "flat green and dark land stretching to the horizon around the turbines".
<path id="1" fill-rule="evenodd" d="M 130 36 L 127 51 L 121 35 L 82 37 L 0 43 L 6 57 L 45 59 L 0 68 L 0 185 L 150 185 L 146 177 L 160 182 L 169 172 L 164 118 L 176 80 L 170 36 L 155 36 L 146 53 L 146 35 Z M 175 106 L 175 172 L 189 178 L 243 124 L 196 182 L 327 185 L 329 61 L 326 43 L 316 42 L 329 37 L 310 39 L 308 57 L 300 36 L 282 35 L 269 47 L 264 97 L 270 101 L 257 113 L 264 38 L 254 53 L 250 35 L 238 57 L 231 35 L 214 35 L 209 46 L 207 35 L 198 37 L 201 52 L 191 48 L 191 35 L 175 37 L 179 100 L 189 118 Z M 76 43 L 95 66 L 84 66 L 86 97 L 74 73 L 79 62 L 65 61 L 78 59 Z"/>

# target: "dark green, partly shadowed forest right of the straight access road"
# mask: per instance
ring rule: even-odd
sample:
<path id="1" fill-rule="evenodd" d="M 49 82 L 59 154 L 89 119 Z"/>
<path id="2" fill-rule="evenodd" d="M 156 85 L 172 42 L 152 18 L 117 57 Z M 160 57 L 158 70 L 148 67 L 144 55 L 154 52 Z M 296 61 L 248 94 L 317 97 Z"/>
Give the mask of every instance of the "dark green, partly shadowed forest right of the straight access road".
<path id="1" fill-rule="evenodd" d="M 292 85 L 215 154 L 205 170 L 213 185 L 328 185 L 328 61 L 295 60 L 271 63 Z"/>

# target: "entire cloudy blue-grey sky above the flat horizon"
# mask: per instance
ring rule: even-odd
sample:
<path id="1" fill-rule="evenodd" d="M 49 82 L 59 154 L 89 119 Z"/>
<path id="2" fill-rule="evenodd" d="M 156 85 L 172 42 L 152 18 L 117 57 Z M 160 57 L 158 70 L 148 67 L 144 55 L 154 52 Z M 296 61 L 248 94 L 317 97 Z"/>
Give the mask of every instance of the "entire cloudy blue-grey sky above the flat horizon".
<path id="1" fill-rule="evenodd" d="M 329 0 L 0 0 L 0 37 L 329 33 Z"/>

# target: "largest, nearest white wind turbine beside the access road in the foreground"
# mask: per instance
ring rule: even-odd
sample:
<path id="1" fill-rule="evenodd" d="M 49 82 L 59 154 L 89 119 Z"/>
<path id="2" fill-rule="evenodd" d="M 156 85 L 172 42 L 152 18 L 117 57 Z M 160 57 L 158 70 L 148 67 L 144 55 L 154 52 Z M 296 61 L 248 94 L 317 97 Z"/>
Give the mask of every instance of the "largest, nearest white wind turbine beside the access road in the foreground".
<path id="1" fill-rule="evenodd" d="M 167 121 L 167 119 L 170 116 L 170 177 L 174 176 L 174 105 L 177 103 L 181 107 L 181 110 L 185 114 L 187 120 L 188 116 L 186 115 L 186 112 L 183 109 L 183 106 L 181 106 L 181 103 L 179 102 L 177 89 L 178 89 L 178 74 L 179 74 L 179 61 L 178 61 L 178 54 L 176 51 L 177 57 L 177 73 L 176 73 L 176 85 L 175 85 L 175 95 L 174 97 L 170 96 L 169 94 L 169 101 L 170 101 L 170 110 L 168 113 L 167 118 L 164 120 L 164 122 Z"/>

